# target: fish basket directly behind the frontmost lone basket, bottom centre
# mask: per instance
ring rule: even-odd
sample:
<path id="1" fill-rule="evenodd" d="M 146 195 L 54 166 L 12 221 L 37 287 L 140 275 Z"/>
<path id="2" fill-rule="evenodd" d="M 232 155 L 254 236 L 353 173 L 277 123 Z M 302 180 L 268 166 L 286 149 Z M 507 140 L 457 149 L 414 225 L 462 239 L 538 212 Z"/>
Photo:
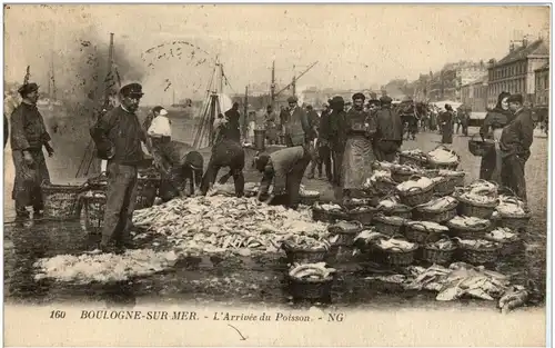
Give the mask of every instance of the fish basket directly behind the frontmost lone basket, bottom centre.
<path id="1" fill-rule="evenodd" d="M 315 241 L 311 238 L 301 238 L 297 236 L 295 241 L 285 240 L 282 242 L 281 248 L 285 251 L 289 264 L 295 262 L 323 262 L 333 257 L 336 248 L 333 247 L 331 241 Z M 333 239 L 333 243 L 335 243 Z"/>

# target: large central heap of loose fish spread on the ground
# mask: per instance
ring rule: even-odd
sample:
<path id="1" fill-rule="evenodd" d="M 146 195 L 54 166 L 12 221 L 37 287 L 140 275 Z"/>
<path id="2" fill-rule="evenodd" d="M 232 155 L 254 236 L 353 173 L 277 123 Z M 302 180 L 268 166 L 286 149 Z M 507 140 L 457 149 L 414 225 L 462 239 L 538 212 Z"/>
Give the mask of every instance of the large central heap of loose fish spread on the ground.
<path id="1" fill-rule="evenodd" d="M 133 223 L 147 233 L 165 236 L 178 252 L 191 255 L 276 252 L 283 241 L 295 237 L 317 245 L 329 236 L 327 225 L 312 221 L 309 209 L 294 211 L 255 198 L 222 196 L 178 198 L 137 210 Z"/>

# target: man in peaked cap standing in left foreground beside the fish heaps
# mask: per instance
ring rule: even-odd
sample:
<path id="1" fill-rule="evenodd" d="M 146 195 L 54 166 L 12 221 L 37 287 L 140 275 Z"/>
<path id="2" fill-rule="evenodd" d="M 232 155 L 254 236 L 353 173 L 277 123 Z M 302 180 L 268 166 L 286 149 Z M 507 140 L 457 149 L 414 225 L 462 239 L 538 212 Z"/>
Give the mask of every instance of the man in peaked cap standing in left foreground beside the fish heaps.
<path id="1" fill-rule="evenodd" d="M 132 247 L 129 232 L 137 199 L 138 169 L 143 161 L 141 142 L 153 152 L 135 113 L 142 96 L 141 84 L 123 86 L 121 105 L 102 115 L 91 129 L 98 156 L 108 160 L 107 205 L 100 243 L 104 252 L 120 252 Z"/>

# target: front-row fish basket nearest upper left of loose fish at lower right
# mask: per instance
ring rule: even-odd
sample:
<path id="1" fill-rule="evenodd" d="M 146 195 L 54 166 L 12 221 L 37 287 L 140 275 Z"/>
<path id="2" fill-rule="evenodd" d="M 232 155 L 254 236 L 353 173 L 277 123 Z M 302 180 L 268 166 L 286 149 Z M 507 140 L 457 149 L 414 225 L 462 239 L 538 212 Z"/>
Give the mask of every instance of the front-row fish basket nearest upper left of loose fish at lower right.
<path id="1" fill-rule="evenodd" d="M 377 259 L 389 266 L 405 267 L 414 262 L 418 245 L 404 240 L 401 236 L 380 238 L 371 243 L 371 252 L 377 253 Z"/>

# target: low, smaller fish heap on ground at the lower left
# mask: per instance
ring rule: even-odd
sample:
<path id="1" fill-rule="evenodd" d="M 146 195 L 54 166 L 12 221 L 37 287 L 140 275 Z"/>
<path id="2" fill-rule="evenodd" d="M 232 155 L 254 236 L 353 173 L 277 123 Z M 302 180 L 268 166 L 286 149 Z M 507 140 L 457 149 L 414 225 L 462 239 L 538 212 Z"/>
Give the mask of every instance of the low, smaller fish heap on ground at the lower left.
<path id="1" fill-rule="evenodd" d="M 128 250 L 123 255 L 58 255 L 39 259 L 34 267 L 36 280 L 49 278 L 73 284 L 113 282 L 133 277 L 150 276 L 175 265 L 173 251 Z"/>

